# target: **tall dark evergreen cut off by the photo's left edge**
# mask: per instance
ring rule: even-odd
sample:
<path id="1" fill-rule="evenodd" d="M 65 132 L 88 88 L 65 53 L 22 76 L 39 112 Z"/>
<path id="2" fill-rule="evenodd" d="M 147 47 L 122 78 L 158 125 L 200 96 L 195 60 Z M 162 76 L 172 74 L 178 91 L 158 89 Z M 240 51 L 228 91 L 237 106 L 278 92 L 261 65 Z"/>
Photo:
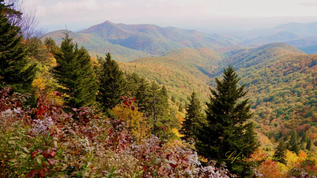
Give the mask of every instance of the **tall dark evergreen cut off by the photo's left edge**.
<path id="1" fill-rule="evenodd" d="M 11 86 L 12 91 L 30 92 L 36 73 L 36 64 L 30 64 L 20 28 L 13 25 L 7 13 L 17 11 L 0 0 L 0 88 Z"/>

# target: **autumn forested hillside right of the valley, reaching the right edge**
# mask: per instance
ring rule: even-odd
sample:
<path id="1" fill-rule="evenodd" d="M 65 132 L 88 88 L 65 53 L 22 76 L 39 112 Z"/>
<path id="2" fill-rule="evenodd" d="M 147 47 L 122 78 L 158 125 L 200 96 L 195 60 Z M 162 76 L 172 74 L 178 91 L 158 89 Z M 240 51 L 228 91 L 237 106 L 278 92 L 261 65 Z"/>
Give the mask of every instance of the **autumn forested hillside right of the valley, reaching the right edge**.
<path id="1" fill-rule="evenodd" d="M 280 130 L 284 137 L 290 129 L 304 128 L 309 134 L 317 131 L 317 55 L 273 43 L 231 51 L 225 59 L 231 59 L 241 84 L 247 84 L 253 119 L 264 134 L 273 138 Z"/>

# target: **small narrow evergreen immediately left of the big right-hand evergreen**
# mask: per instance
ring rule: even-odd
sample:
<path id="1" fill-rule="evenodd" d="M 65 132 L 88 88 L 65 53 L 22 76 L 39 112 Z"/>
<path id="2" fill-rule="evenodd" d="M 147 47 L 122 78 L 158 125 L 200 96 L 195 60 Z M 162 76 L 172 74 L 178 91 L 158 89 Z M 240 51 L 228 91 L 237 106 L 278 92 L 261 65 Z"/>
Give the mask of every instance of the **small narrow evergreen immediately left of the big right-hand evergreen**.
<path id="1" fill-rule="evenodd" d="M 192 92 L 189 102 L 190 104 L 186 107 L 186 116 L 180 133 L 184 135 L 182 139 L 193 138 L 196 140 L 198 128 L 203 123 L 204 115 L 201 113 L 201 105 L 195 91 Z"/>

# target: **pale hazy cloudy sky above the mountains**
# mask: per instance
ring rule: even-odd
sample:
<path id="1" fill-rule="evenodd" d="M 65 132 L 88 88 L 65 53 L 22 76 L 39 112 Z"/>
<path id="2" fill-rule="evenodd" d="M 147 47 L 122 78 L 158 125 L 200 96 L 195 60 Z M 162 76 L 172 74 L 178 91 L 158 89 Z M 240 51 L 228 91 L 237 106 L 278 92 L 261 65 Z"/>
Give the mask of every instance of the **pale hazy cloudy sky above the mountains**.
<path id="1" fill-rule="evenodd" d="M 24 0 L 23 6 L 36 9 L 48 31 L 106 20 L 215 31 L 317 21 L 317 0 Z"/>

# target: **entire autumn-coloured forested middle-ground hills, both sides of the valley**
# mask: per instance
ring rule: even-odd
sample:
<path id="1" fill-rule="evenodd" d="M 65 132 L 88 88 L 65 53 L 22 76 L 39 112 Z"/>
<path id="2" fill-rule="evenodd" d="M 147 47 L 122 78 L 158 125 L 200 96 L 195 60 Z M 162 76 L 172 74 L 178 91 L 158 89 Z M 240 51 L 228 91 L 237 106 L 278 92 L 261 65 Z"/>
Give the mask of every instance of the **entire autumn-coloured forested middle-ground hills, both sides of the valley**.
<path id="1" fill-rule="evenodd" d="M 288 138 L 291 129 L 305 128 L 308 135 L 317 131 L 317 55 L 284 44 L 237 49 L 223 54 L 209 49 L 177 49 L 161 57 L 141 58 L 120 63 L 128 72 L 157 80 L 170 98 L 186 103 L 193 90 L 202 103 L 208 100 L 214 77 L 231 64 L 249 90 L 252 119 L 263 134 L 273 139 L 279 131 Z M 313 139 L 317 143 L 317 139 Z"/>

